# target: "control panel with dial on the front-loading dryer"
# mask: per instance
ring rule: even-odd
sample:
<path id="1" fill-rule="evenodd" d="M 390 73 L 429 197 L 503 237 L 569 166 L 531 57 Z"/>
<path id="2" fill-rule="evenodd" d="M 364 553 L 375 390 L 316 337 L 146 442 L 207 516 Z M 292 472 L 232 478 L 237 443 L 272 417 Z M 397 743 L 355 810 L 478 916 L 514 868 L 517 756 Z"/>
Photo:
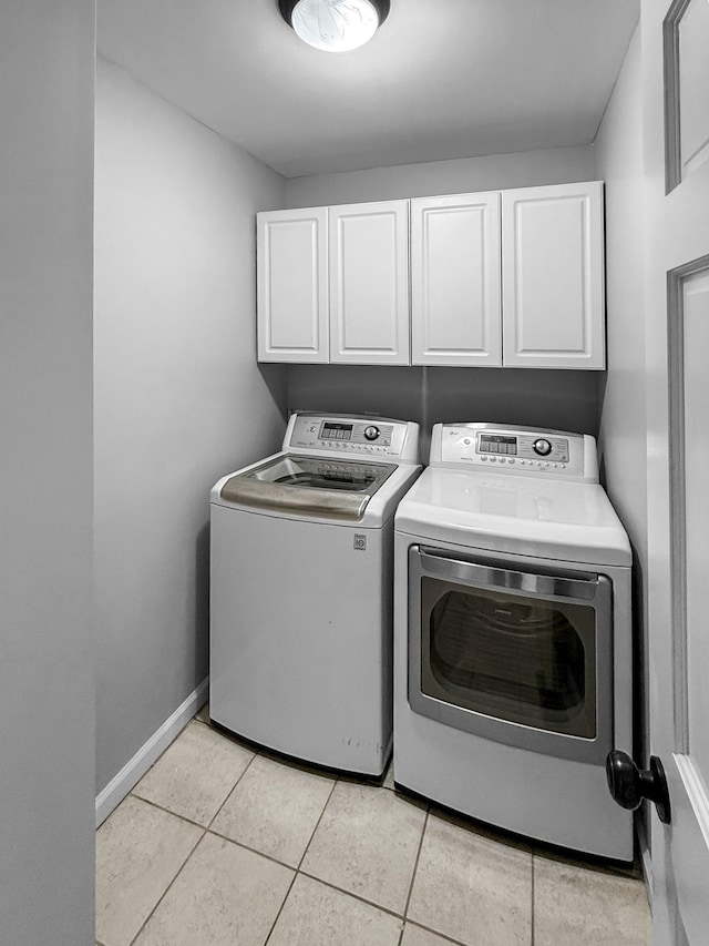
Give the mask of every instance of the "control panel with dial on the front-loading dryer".
<path id="1" fill-rule="evenodd" d="M 430 464 L 598 482 L 593 437 L 536 427 L 436 424 Z"/>

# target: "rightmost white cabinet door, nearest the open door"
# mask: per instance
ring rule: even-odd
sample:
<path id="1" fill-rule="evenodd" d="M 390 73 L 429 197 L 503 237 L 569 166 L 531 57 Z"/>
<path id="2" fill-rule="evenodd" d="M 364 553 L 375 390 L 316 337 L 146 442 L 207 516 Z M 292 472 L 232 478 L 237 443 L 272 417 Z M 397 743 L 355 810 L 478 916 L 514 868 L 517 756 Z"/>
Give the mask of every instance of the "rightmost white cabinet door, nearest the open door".
<path id="1" fill-rule="evenodd" d="M 604 368 L 603 184 L 502 192 L 503 362 Z"/>

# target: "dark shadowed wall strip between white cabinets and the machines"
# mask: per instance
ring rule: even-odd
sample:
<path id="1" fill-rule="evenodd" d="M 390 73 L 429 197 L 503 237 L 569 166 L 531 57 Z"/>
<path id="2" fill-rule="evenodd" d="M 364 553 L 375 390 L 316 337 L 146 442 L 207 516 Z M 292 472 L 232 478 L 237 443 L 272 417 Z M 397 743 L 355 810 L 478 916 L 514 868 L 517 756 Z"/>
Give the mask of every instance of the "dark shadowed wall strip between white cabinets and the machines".
<path id="1" fill-rule="evenodd" d="M 598 434 L 598 372 L 288 365 L 289 410 L 379 414 L 421 425 L 493 421 Z"/>

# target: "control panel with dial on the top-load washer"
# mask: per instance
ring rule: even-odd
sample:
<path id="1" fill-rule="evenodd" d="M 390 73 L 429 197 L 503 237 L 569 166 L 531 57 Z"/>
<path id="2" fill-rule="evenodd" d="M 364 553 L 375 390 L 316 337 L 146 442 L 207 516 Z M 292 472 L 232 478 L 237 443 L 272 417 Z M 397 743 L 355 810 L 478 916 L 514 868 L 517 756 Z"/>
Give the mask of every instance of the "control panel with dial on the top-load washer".
<path id="1" fill-rule="evenodd" d="M 418 462 L 419 426 L 379 417 L 294 414 L 284 450 L 381 457 Z"/>

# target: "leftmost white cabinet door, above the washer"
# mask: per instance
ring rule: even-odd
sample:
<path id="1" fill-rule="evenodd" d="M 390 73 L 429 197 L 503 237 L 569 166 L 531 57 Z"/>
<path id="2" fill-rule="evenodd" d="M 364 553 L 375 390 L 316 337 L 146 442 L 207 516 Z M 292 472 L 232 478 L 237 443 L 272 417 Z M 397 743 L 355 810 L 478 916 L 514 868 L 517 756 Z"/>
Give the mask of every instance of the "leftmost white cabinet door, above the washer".
<path id="1" fill-rule="evenodd" d="M 259 362 L 329 359 L 327 207 L 257 215 Z"/>

